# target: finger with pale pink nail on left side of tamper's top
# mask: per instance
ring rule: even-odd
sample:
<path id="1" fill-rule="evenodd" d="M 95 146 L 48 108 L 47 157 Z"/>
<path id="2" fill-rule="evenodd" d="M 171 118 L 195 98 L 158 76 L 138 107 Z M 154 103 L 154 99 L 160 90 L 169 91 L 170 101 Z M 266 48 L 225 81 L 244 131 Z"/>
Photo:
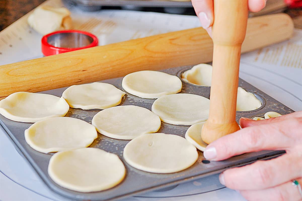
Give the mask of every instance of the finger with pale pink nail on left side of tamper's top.
<path id="1" fill-rule="evenodd" d="M 213 0 L 192 0 L 192 5 L 201 22 L 201 26 L 207 30 L 213 25 Z"/>

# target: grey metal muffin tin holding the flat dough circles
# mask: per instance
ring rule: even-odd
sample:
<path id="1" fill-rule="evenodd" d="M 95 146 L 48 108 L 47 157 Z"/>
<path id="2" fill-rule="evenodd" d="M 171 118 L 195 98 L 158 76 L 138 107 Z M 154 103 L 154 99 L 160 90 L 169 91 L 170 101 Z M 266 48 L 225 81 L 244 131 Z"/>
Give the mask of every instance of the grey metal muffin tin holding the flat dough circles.
<path id="1" fill-rule="evenodd" d="M 181 77 L 181 73 L 188 70 L 192 66 L 184 66 L 178 68 L 170 68 L 163 70 L 163 72 L 177 75 Z M 110 80 L 104 80 L 109 84 L 113 84 L 117 88 L 121 87 L 122 77 L 114 78 Z M 239 121 L 240 117 L 252 118 L 255 116 L 263 116 L 268 111 L 276 111 L 280 114 L 288 114 L 294 112 L 290 108 L 276 101 L 272 97 L 263 93 L 259 89 L 253 87 L 247 82 L 239 79 L 239 86 L 243 87 L 246 91 L 252 92 L 255 96 L 262 102 L 262 107 L 252 110 L 252 111 L 240 111 L 236 113 L 236 120 Z M 67 87 L 54 89 L 50 91 L 44 91 L 40 93 L 53 94 L 56 96 L 61 96 L 63 91 Z M 183 88 L 180 93 L 191 93 L 198 94 L 209 98 L 210 87 L 201 87 L 183 82 Z M 140 97 L 133 96 L 126 92 L 126 95 L 120 105 L 137 105 L 145 107 L 151 110 L 151 106 L 156 99 L 144 99 Z M 69 112 L 66 114 L 68 117 L 75 117 L 91 123 L 92 117 L 98 113 L 99 110 L 81 110 L 70 108 Z M 92 143 L 90 147 L 96 147 L 103 149 L 105 151 L 117 154 L 126 166 L 127 173 L 125 179 L 117 186 L 92 193 L 80 193 L 65 189 L 56 183 L 54 183 L 47 174 L 47 166 L 52 154 L 40 153 L 33 150 L 24 139 L 24 130 L 27 129 L 31 124 L 15 122 L 6 119 L 0 115 L 0 124 L 7 132 L 8 136 L 11 138 L 16 146 L 19 153 L 25 157 L 26 160 L 33 166 L 34 170 L 41 177 L 41 179 L 46 183 L 46 185 L 53 190 L 55 193 L 60 194 L 66 198 L 72 200 L 116 200 L 127 196 L 133 196 L 141 194 L 148 191 L 163 189 L 176 184 L 184 183 L 191 180 L 196 180 L 205 176 L 220 173 L 223 170 L 242 166 L 252 163 L 256 160 L 270 159 L 277 157 L 284 153 L 284 151 L 260 151 L 253 153 L 246 153 L 239 156 L 232 157 L 224 161 L 207 161 L 203 157 L 203 153 L 198 151 L 199 157 L 197 162 L 186 170 L 170 173 L 170 174 L 156 174 L 148 173 L 141 170 L 137 170 L 129 166 L 123 159 L 123 149 L 129 140 L 116 140 L 106 136 L 102 136 L 98 133 L 98 138 Z M 166 124 L 162 122 L 161 128 L 158 132 L 167 134 L 176 134 L 184 137 L 186 130 L 189 126 L 178 126 L 172 124 Z"/>

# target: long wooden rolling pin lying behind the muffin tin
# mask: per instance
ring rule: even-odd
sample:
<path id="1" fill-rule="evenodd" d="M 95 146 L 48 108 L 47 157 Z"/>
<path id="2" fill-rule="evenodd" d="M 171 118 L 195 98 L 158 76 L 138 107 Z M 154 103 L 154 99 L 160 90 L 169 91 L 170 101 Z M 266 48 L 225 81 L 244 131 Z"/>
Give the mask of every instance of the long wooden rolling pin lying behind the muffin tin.
<path id="1" fill-rule="evenodd" d="M 284 41 L 293 27 L 286 14 L 250 18 L 242 52 Z M 134 71 L 210 62 L 212 53 L 207 32 L 194 28 L 2 65 L 0 99 L 17 91 L 45 91 Z"/>

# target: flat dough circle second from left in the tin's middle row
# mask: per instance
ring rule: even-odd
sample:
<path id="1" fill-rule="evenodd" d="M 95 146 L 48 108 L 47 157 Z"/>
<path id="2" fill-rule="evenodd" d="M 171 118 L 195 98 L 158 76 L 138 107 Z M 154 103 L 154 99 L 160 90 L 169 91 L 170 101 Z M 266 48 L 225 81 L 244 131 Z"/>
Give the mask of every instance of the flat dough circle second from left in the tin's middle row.
<path id="1" fill-rule="evenodd" d="M 107 137 L 132 140 L 141 134 L 155 133 L 161 122 L 157 115 L 146 108 L 123 105 L 98 112 L 92 118 L 92 125 Z"/>

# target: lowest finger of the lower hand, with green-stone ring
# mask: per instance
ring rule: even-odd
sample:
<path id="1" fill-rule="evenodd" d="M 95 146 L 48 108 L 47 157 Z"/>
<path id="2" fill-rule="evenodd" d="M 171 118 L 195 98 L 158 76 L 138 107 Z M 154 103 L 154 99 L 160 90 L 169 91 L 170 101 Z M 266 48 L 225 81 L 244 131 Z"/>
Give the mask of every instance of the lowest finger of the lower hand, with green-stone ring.
<path id="1" fill-rule="evenodd" d="M 302 183 L 302 178 L 297 179 L 299 183 Z M 301 201 L 302 196 L 299 193 L 298 187 L 292 185 L 292 182 L 286 182 L 280 186 L 264 190 L 244 190 L 240 191 L 242 196 L 249 200 L 265 200 L 265 201 Z"/>

